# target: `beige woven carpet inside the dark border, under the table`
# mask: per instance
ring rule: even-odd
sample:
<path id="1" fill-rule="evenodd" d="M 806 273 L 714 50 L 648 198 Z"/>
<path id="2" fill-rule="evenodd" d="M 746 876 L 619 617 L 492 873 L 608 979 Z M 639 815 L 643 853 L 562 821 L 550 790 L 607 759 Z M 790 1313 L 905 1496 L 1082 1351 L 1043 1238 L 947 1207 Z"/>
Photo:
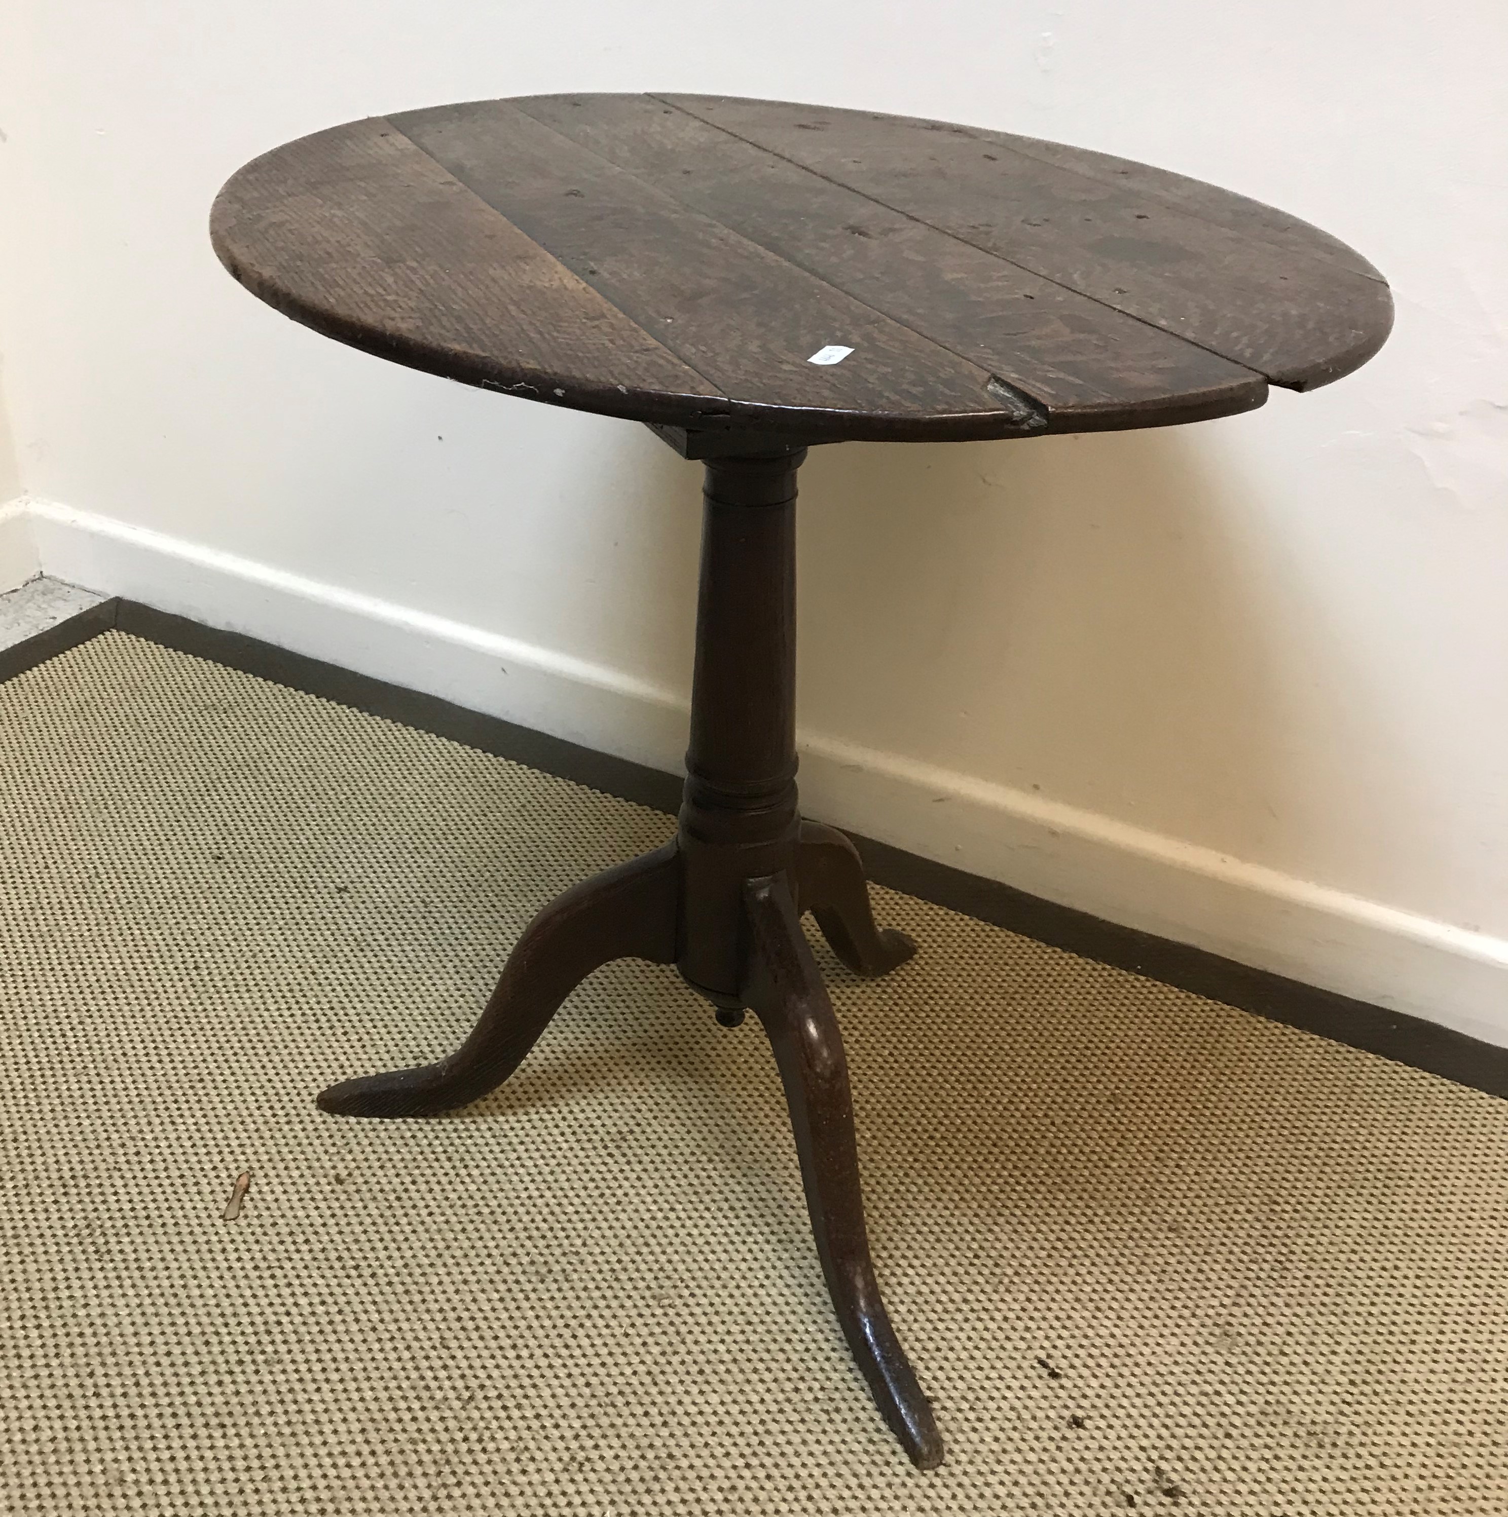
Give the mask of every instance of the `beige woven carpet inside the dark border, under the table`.
<path id="1" fill-rule="evenodd" d="M 919 1475 L 752 1019 L 619 965 L 463 1115 L 314 1109 L 664 816 L 118 633 L 0 762 L 6 1512 L 1508 1511 L 1508 1103 L 878 892 Z"/>

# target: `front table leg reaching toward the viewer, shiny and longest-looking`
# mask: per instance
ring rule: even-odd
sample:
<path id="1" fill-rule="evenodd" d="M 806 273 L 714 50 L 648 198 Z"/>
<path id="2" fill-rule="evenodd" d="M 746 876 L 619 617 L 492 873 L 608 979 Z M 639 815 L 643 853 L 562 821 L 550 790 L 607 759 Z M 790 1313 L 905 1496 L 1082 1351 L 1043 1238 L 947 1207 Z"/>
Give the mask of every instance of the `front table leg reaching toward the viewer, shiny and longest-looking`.
<path id="1" fill-rule="evenodd" d="M 751 880 L 745 906 L 751 941 L 746 998 L 780 1068 L 807 1212 L 837 1320 L 891 1431 L 915 1465 L 933 1468 L 942 1462 L 942 1438 L 891 1326 L 869 1259 L 848 1062 L 833 1004 L 784 878 Z"/>

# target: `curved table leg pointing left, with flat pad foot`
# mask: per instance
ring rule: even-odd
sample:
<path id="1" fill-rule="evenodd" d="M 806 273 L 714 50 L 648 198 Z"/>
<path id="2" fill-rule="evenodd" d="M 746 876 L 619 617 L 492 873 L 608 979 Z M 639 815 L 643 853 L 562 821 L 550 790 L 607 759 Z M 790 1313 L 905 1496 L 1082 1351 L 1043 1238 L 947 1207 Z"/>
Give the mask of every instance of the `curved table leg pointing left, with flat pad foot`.
<path id="1" fill-rule="evenodd" d="M 523 930 L 470 1036 L 448 1059 L 320 1092 L 340 1117 L 432 1117 L 478 1100 L 523 1062 L 560 1003 L 613 959 L 675 960 L 675 845 L 566 890 Z"/>

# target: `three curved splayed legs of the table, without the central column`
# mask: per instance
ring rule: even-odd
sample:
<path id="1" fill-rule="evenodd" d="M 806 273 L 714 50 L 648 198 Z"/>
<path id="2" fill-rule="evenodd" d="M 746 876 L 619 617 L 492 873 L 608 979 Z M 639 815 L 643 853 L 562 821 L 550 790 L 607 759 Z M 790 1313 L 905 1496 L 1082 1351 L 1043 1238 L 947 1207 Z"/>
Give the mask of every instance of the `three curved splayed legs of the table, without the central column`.
<path id="1" fill-rule="evenodd" d="M 792 865 L 789 872 L 745 883 L 749 953 L 740 1000 L 763 1024 L 780 1068 L 816 1252 L 844 1336 L 906 1453 L 932 1468 L 942 1462 L 942 1440 L 880 1299 L 844 1041 L 800 915 L 810 910 L 837 957 L 860 974 L 884 974 L 915 945 L 875 925 L 863 866 L 842 833 L 804 822 Z M 669 843 L 557 897 L 525 928 L 481 1019 L 455 1053 L 416 1069 L 343 1080 L 320 1094 L 320 1109 L 340 1117 L 435 1117 L 496 1089 L 593 969 L 613 959 L 677 960 L 681 880 L 678 848 Z"/>

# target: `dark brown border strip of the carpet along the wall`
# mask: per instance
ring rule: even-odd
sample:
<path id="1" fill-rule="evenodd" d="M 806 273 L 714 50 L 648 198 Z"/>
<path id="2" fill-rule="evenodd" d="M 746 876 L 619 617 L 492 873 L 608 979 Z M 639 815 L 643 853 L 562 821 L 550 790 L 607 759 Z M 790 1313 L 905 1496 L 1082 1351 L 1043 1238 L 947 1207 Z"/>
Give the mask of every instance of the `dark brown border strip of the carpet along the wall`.
<path id="1" fill-rule="evenodd" d="M 137 601 L 106 601 L 5 649 L 0 652 L 0 680 L 9 680 L 112 627 L 275 684 L 323 696 L 373 716 L 385 716 L 438 737 L 451 737 L 482 752 L 513 758 L 657 812 L 674 815 L 680 806 L 680 775 L 616 758 L 498 716 L 469 711 L 438 696 L 352 674 L 338 664 L 290 652 L 244 633 L 220 631 Z M 1035 938 L 1083 959 L 1130 969 L 1148 980 L 1224 1001 L 1268 1021 L 1443 1076 L 1488 1095 L 1508 1097 L 1508 1048 L 1418 1016 L 1321 991 L 1265 969 L 1252 969 L 1203 948 L 1118 927 L 1086 912 L 1027 895 L 998 880 L 965 874 L 871 837 L 851 836 L 859 845 L 869 878 L 877 884 Z"/>

